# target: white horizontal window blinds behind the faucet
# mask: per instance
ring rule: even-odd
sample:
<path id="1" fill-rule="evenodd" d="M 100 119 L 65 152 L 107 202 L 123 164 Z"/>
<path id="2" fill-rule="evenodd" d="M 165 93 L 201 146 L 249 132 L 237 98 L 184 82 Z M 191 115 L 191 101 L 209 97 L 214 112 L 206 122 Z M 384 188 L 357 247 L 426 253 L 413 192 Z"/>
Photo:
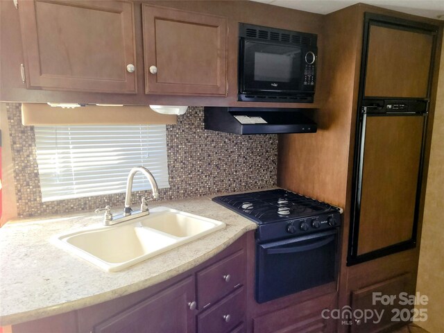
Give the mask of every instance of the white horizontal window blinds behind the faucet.
<path id="1" fill-rule="evenodd" d="M 133 167 L 169 187 L 164 125 L 35 127 L 42 200 L 123 193 Z M 133 191 L 151 189 L 137 173 Z"/>

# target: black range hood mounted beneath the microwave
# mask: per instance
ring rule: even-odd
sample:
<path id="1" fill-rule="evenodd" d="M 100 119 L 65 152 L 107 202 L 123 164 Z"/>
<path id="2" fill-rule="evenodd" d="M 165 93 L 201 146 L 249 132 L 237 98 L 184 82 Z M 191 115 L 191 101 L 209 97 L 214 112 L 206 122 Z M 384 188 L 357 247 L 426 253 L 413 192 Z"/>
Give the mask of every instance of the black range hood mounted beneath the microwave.
<path id="1" fill-rule="evenodd" d="M 205 107 L 206 130 L 235 134 L 316 133 L 314 121 L 299 109 Z"/>

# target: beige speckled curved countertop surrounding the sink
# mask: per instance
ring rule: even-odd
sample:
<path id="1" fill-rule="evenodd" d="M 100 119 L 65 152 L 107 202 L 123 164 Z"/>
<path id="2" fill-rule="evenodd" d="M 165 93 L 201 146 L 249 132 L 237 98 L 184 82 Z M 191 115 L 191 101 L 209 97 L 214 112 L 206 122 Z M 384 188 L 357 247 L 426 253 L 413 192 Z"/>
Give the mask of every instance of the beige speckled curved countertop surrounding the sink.
<path id="1" fill-rule="evenodd" d="M 112 300 L 168 280 L 227 248 L 255 223 L 210 197 L 151 202 L 223 221 L 225 229 L 108 273 L 62 250 L 57 234 L 101 226 L 102 214 L 23 219 L 0 228 L 0 324 L 11 325 Z"/>

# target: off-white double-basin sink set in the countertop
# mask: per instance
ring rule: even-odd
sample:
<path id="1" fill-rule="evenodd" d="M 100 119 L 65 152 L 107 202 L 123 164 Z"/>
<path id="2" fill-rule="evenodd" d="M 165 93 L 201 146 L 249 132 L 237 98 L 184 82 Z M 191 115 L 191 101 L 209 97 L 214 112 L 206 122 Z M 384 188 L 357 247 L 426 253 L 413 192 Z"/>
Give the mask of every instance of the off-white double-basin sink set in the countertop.
<path id="1" fill-rule="evenodd" d="M 156 207 L 149 215 L 62 234 L 55 241 L 105 271 L 116 272 L 223 228 L 220 221 Z"/>

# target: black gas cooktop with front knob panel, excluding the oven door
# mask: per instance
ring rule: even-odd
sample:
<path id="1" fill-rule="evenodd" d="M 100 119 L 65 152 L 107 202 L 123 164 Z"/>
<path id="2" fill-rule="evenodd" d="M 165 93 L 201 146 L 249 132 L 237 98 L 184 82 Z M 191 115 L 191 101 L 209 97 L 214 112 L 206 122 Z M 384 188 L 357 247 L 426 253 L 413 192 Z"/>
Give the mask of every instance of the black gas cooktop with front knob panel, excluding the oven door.
<path id="1" fill-rule="evenodd" d="M 259 241 L 319 232 L 341 223 L 338 207 L 285 189 L 217 196 L 213 200 L 257 223 Z"/>

